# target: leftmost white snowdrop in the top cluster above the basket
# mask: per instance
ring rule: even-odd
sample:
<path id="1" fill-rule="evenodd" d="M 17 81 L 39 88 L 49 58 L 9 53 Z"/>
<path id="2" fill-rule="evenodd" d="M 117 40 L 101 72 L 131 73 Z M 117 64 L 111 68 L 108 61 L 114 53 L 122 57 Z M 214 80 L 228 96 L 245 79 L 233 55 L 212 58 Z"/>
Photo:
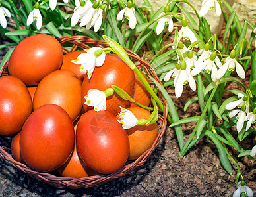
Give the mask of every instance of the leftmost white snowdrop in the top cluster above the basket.
<path id="1" fill-rule="evenodd" d="M 92 8 L 92 2 L 90 2 L 89 0 L 85 1 L 81 0 L 79 1 L 75 1 L 75 9 L 74 9 L 74 14 L 71 16 L 71 26 L 75 26 L 77 24 L 77 22 L 79 22 L 82 18 L 82 16 L 84 16 L 86 14 L 86 12 L 88 11 L 88 9 Z"/>

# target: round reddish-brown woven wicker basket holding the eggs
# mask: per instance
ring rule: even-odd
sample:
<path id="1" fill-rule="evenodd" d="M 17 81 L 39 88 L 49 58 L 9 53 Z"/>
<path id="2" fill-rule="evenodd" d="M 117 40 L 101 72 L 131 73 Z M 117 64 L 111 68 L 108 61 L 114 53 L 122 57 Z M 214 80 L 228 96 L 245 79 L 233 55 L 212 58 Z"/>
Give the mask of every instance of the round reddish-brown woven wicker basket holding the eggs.
<path id="1" fill-rule="evenodd" d="M 70 53 L 75 51 L 78 47 L 82 49 L 90 48 L 90 47 L 109 47 L 106 41 L 96 41 L 91 39 L 90 37 L 86 36 L 81 36 L 81 35 L 76 35 L 72 37 L 61 37 L 59 39 L 59 42 L 61 45 L 65 45 L 66 47 L 63 47 L 63 53 Z M 125 49 L 127 51 L 127 54 L 129 57 L 133 58 L 137 62 L 137 68 L 143 68 L 146 74 L 154 77 L 159 83 L 160 80 L 158 79 L 158 76 L 156 75 L 156 71 L 150 64 L 148 64 L 146 61 L 142 60 L 139 55 L 136 53 L 133 53 L 133 51 L 129 49 Z M 0 76 L 7 75 L 8 72 L 6 71 L 8 66 L 8 60 L 3 64 L 3 67 L 0 70 Z M 162 84 L 162 83 L 161 83 Z M 154 85 L 152 80 L 150 80 L 150 85 Z M 108 174 L 108 175 L 96 175 L 96 176 L 90 176 L 90 177 L 84 177 L 80 179 L 75 179 L 72 177 L 58 177 L 55 175 L 52 175 L 50 173 L 41 173 L 38 171 L 35 171 L 34 169 L 31 169 L 30 167 L 21 164 L 20 162 L 16 162 L 10 152 L 10 142 L 6 142 L 4 140 L 4 137 L 1 137 L 3 142 L 1 144 L 3 146 L 0 146 L 0 156 L 4 159 L 13 164 L 16 168 L 20 169 L 24 173 L 30 175 L 30 177 L 33 177 L 34 179 L 37 179 L 39 181 L 43 181 L 45 183 L 48 183 L 49 185 L 55 186 L 57 188 L 89 188 L 89 187 L 94 187 L 94 186 L 100 186 L 102 183 L 106 183 L 112 179 L 117 179 L 119 177 L 122 177 L 123 175 L 127 175 L 131 173 L 131 171 L 135 170 L 136 167 L 139 167 L 148 160 L 154 149 L 158 146 L 160 139 L 164 135 L 164 132 L 166 131 L 166 117 L 168 113 L 168 107 L 166 104 L 166 100 L 158 91 L 158 97 L 160 98 L 162 104 L 164 105 L 164 110 L 161 112 L 159 115 L 159 120 L 158 120 L 158 135 L 156 137 L 156 140 L 154 141 L 154 144 L 152 144 L 152 147 L 144 152 L 143 155 L 141 155 L 137 160 L 134 161 L 128 161 L 127 164 L 125 164 L 121 169 L 116 171 L 115 173 Z M 8 151 L 8 152 L 7 152 Z"/>

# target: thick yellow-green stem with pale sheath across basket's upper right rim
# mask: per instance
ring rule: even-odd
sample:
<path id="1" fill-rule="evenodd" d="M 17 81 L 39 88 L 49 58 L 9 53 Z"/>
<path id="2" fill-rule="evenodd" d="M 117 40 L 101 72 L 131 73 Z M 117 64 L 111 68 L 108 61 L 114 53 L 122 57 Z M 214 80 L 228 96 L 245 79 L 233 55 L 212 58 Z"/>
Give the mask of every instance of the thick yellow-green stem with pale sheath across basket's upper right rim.
<path id="1" fill-rule="evenodd" d="M 129 68 L 131 68 L 131 70 L 133 70 L 135 72 L 135 74 L 137 74 L 137 76 L 143 82 L 143 85 L 148 90 L 148 93 L 150 93 L 150 95 L 152 95 L 153 99 L 156 100 L 156 103 L 158 104 L 160 109 L 164 110 L 164 105 L 162 104 L 162 102 L 160 101 L 160 99 L 158 98 L 158 96 L 156 95 L 154 90 L 152 90 L 152 88 L 148 84 L 148 81 L 146 81 L 146 79 L 141 74 L 139 69 L 130 60 L 129 56 L 127 55 L 127 53 L 125 52 L 123 47 L 121 47 L 116 41 L 114 41 L 113 39 L 111 39 L 110 37 L 108 37 L 106 35 L 103 35 L 102 37 L 110 45 L 110 47 L 113 49 L 113 51 L 123 60 L 123 62 L 125 62 L 125 64 L 127 64 L 127 66 L 129 66 Z"/>

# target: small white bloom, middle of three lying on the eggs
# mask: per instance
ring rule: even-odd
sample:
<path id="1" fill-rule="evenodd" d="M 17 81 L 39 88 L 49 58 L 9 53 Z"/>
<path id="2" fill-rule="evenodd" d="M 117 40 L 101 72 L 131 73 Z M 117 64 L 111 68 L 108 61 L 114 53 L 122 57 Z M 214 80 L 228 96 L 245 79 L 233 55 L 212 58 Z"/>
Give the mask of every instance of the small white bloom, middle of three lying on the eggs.
<path id="1" fill-rule="evenodd" d="M 106 110 L 106 95 L 104 91 L 99 91 L 98 89 L 88 90 L 88 94 L 84 96 L 86 102 L 84 104 L 88 106 L 93 106 L 96 112 Z"/>

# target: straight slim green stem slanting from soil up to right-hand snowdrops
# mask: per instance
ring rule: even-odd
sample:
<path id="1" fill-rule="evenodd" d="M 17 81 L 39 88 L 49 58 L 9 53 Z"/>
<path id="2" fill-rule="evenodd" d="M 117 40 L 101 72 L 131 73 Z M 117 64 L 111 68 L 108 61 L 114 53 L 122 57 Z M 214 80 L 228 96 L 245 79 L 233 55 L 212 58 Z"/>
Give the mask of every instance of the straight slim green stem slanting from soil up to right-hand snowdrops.
<path id="1" fill-rule="evenodd" d="M 208 101 L 207 101 L 207 104 L 205 105 L 205 108 L 204 108 L 204 110 L 203 110 L 203 112 L 202 112 L 202 114 L 201 114 L 201 116 L 200 116 L 199 121 L 197 122 L 197 125 L 195 126 L 195 129 L 193 129 L 193 131 L 192 131 L 191 135 L 189 136 L 189 139 L 187 140 L 185 146 L 182 148 L 182 150 L 181 150 L 181 156 L 184 156 L 185 153 L 187 152 L 187 147 L 188 147 L 189 144 L 191 143 L 191 141 L 192 141 L 192 139 L 193 139 L 193 137 L 194 137 L 194 135 L 195 135 L 195 133 L 196 133 L 196 131 L 197 131 L 197 127 L 198 127 L 199 123 L 201 122 L 201 120 L 203 120 L 203 118 L 204 118 L 204 116 L 205 116 L 205 114 L 206 114 L 206 112 L 207 112 L 208 106 L 209 106 L 209 105 L 211 104 L 211 102 L 212 102 L 212 98 L 214 97 L 214 94 L 215 94 L 215 92 L 216 92 L 216 90 L 217 90 L 217 88 L 218 88 L 219 82 L 220 82 L 220 79 L 218 79 L 218 81 L 216 81 L 216 85 L 215 85 L 214 89 L 212 90 L 212 93 L 210 94 L 210 97 L 209 97 L 209 99 L 208 99 Z"/>

